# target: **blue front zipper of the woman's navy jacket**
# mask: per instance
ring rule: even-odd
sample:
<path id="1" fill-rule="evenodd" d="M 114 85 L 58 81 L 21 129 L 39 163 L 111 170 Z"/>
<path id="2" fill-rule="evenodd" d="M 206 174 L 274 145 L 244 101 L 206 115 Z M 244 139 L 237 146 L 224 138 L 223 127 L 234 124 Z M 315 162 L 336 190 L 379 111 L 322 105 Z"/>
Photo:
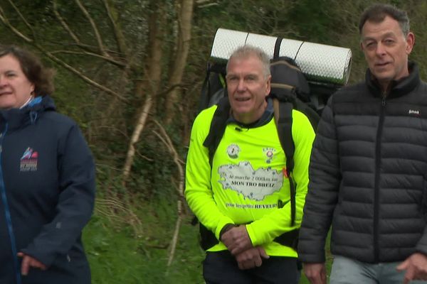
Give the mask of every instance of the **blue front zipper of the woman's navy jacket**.
<path id="1" fill-rule="evenodd" d="M 3 140 L 6 136 L 8 124 L 6 124 L 3 133 L 0 133 L 0 193 L 1 201 L 3 202 L 4 215 L 6 217 L 7 230 L 9 232 L 9 238 L 11 241 L 12 258 L 14 259 L 14 268 L 16 275 L 16 283 L 21 284 L 21 269 L 18 261 L 18 251 L 16 250 L 16 240 L 14 235 L 14 228 L 12 226 L 11 212 L 9 209 L 9 202 L 7 202 L 6 187 L 4 186 L 3 170 L 1 169 L 1 160 L 3 158 Z"/>

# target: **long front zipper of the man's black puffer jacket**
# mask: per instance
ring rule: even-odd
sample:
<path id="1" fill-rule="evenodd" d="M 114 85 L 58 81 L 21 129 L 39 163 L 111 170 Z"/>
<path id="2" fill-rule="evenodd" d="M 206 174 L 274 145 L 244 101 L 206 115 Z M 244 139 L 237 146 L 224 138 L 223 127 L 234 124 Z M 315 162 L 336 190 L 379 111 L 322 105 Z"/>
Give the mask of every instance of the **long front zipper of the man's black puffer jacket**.
<path id="1" fill-rule="evenodd" d="M 375 185 L 374 185 L 374 263 L 379 262 L 379 176 L 381 171 L 381 136 L 384 124 L 384 111 L 386 107 L 386 92 L 381 99 L 378 130 L 376 131 L 375 149 Z"/>

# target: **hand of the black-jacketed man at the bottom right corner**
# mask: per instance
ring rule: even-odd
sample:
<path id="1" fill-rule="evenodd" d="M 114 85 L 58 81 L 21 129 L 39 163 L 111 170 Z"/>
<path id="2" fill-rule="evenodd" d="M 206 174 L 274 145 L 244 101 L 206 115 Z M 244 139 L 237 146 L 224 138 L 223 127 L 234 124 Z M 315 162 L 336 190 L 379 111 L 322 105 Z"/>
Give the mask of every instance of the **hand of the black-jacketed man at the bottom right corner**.
<path id="1" fill-rule="evenodd" d="M 427 280 L 427 256 L 423 253 L 413 253 L 396 269 L 406 271 L 404 284 L 411 280 Z"/>

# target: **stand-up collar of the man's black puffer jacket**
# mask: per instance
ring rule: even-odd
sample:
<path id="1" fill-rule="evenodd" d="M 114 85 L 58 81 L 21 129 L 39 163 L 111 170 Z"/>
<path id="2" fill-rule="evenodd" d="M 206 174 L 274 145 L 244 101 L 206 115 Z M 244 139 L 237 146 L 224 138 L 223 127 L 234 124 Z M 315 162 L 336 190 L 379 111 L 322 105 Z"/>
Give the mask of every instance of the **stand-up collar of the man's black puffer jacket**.
<path id="1" fill-rule="evenodd" d="M 419 77 L 418 65 L 416 65 L 415 62 L 408 62 L 408 70 L 409 75 L 407 77 L 401 78 L 397 81 L 391 81 L 391 89 L 387 94 L 388 98 L 401 97 L 408 94 L 408 92 L 411 92 L 416 86 L 418 86 L 418 84 L 420 84 L 421 80 Z M 367 70 L 365 80 L 371 93 L 374 94 L 375 97 L 382 97 L 383 94 L 381 87 L 369 68 Z"/>

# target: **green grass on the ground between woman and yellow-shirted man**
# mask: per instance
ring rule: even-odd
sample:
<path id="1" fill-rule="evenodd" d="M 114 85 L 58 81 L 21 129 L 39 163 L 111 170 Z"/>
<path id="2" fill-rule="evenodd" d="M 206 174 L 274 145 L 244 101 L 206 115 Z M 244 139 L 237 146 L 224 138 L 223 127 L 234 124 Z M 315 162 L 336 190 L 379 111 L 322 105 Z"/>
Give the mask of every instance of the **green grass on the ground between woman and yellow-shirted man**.
<path id="1" fill-rule="evenodd" d="M 135 207 L 141 220 L 139 234 L 126 214 L 120 219 L 98 208 L 83 231 L 92 283 L 203 284 L 204 251 L 197 241 L 198 226 L 190 224 L 191 217 L 186 217 L 181 225 L 174 261 L 167 267 L 176 221 L 175 208 L 176 204 L 167 201 L 139 204 Z M 327 258 L 330 260 L 330 256 Z M 329 274 L 330 261 L 327 270 Z M 302 275 L 300 283 L 309 282 Z"/>

